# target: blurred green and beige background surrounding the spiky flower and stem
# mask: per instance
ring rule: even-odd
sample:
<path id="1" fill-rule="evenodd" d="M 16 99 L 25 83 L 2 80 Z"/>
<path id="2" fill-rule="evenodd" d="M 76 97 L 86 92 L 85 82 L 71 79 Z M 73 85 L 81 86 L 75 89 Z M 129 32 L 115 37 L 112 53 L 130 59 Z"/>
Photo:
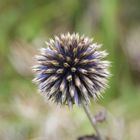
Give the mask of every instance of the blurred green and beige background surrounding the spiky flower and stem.
<path id="1" fill-rule="evenodd" d="M 93 130 L 82 108 L 59 107 L 31 80 L 37 49 L 53 35 L 79 32 L 103 44 L 113 74 L 99 124 L 112 140 L 140 140 L 139 0 L 0 0 L 0 140 L 75 140 Z"/>

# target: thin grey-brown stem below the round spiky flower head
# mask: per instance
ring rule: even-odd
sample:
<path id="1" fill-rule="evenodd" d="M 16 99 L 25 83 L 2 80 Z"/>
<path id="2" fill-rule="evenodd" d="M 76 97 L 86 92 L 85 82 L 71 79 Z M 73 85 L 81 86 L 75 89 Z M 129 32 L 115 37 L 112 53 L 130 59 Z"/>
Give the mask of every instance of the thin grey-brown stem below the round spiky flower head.
<path id="1" fill-rule="evenodd" d="M 96 120 L 95 120 L 95 118 L 93 117 L 93 115 L 92 115 L 92 113 L 91 113 L 91 111 L 90 111 L 88 105 L 85 104 L 85 103 L 82 101 L 82 106 L 83 106 L 83 109 L 84 109 L 84 111 L 85 111 L 85 113 L 86 113 L 86 115 L 87 115 L 89 121 L 91 122 L 91 125 L 92 125 L 93 129 L 95 130 L 95 132 L 96 132 L 96 134 L 97 134 L 97 137 L 99 138 L 99 140 L 102 140 L 102 139 L 101 139 L 100 132 L 99 132 L 99 130 L 98 130 L 98 128 L 97 128 L 97 125 L 96 125 Z"/>

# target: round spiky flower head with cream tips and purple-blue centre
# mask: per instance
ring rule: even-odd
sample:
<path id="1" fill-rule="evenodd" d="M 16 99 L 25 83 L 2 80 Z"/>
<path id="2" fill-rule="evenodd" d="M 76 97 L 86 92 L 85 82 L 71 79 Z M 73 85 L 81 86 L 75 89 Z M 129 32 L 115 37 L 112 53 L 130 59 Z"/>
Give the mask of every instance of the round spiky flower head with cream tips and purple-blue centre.
<path id="1" fill-rule="evenodd" d="M 110 63 L 101 45 L 78 34 L 61 34 L 46 42 L 36 56 L 34 82 L 48 99 L 72 106 L 98 98 L 107 87 Z"/>

